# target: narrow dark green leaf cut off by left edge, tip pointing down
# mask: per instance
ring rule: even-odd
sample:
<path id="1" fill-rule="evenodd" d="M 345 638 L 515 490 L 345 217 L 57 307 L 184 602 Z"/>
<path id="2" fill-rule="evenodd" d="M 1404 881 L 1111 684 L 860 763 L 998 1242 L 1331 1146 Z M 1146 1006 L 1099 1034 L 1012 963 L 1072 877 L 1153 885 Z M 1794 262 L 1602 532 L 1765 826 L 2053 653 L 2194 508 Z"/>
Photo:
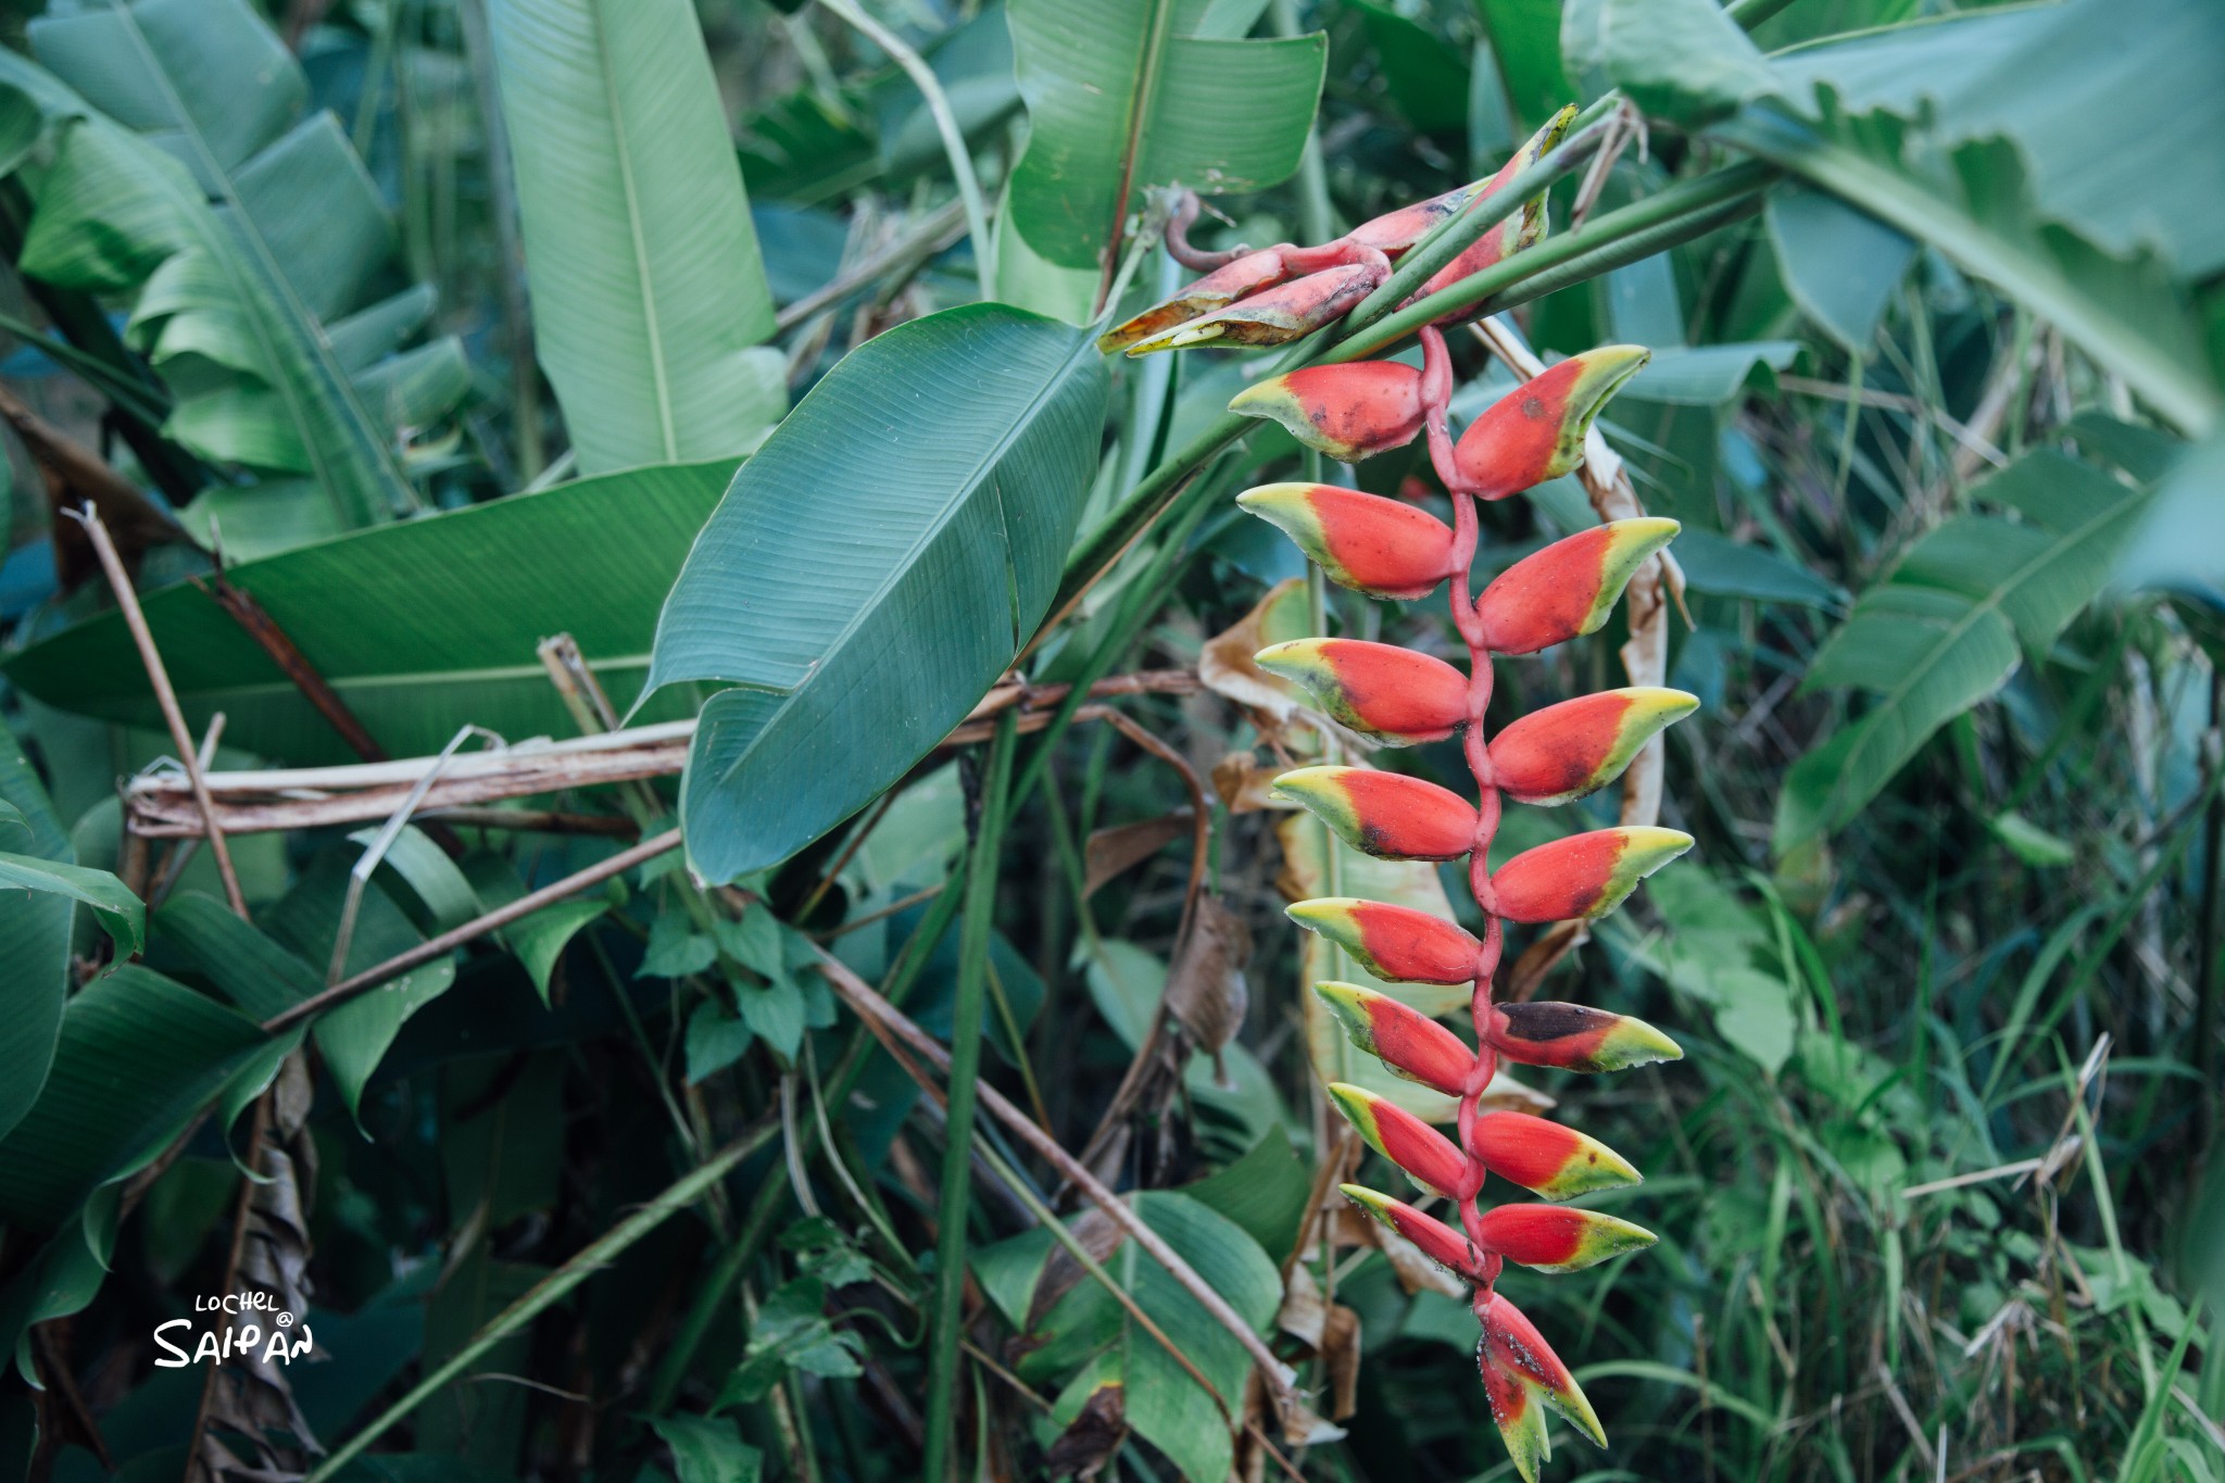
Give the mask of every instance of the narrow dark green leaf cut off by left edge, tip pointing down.
<path id="1" fill-rule="evenodd" d="M 0 725 L 0 800 L 13 809 L 0 843 L 40 860 L 76 860 L 47 789 L 7 725 Z M 0 1136 L 31 1109 L 47 1081 L 69 994 L 71 916 L 62 896 L 0 892 Z"/>

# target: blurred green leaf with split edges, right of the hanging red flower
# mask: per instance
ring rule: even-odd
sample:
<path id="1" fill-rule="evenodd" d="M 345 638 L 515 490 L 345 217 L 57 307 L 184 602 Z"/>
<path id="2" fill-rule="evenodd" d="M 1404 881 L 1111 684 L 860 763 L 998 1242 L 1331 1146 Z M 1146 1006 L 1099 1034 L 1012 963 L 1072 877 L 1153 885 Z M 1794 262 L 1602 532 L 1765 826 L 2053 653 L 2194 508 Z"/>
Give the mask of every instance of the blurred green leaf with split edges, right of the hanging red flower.
<path id="1" fill-rule="evenodd" d="M 2018 645 L 2045 656 L 2109 583 L 2149 505 L 2047 449 L 1976 498 L 2020 518 L 1960 514 L 1927 534 L 1809 665 L 1811 689 L 1860 689 L 1873 703 L 1793 763 L 1778 796 L 1780 852 L 1849 823 L 1934 731 L 2000 689 Z"/>

